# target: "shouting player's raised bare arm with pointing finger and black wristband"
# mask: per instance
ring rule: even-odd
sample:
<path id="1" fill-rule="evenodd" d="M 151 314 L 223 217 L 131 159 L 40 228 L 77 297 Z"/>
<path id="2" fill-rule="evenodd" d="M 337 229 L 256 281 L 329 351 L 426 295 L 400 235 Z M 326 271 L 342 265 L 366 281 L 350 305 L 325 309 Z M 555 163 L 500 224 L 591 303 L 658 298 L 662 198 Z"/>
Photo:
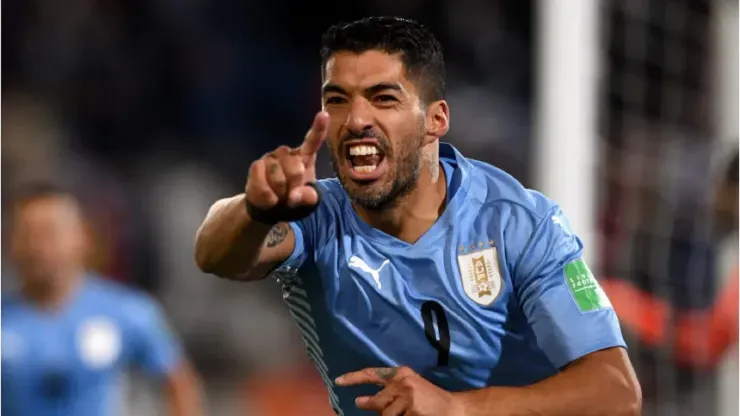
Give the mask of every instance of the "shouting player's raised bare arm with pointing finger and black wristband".
<path id="1" fill-rule="evenodd" d="M 258 280 L 291 255 L 295 236 L 286 221 L 309 215 L 319 201 L 311 185 L 328 121 L 317 114 L 300 147 L 281 146 L 255 161 L 245 193 L 213 204 L 195 237 L 203 272 Z"/>

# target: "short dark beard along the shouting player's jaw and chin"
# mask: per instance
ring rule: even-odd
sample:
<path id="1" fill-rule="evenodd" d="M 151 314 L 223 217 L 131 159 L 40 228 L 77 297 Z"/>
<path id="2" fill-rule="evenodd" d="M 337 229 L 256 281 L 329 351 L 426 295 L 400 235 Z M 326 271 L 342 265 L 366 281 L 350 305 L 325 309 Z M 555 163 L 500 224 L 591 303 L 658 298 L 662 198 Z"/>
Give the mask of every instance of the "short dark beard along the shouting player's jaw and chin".
<path id="1" fill-rule="evenodd" d="M 398 203 L 411 193 L 419 182 L 419 176 L 421 175 L 421 157 L 417 153 L 416 157 L 404 160 L 403 165 L 399 166 L 399 175 L 393 178 L 391 189 L 387 192 L 374 195 L 362 195 L 351 192 L 351 186 L 347 186 L 342 176 L 339 175 L 339 169 L 337 168 L 337 162 L 334 155 L 331 156 L 331 163 L 334 172 L 339 178 L 339 182 L 342 184 L 344 191 L 347 192 L 352 203 L 357 204 L 368 211 L 385 211 L 391 208 L 395 208 Z"/>

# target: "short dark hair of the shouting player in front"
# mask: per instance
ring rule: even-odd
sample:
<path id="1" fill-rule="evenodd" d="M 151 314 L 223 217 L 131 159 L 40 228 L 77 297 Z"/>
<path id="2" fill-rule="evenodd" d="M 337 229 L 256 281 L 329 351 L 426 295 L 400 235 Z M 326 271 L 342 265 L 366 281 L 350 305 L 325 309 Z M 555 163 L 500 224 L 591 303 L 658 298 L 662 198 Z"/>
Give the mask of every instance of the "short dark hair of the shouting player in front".
<path id="1" fill-rule="evenodd" d="M 329 28 L 322 37 L 321 73 L 332 54 L 381 50 L 401 54 L 406 76 L 414 81 L 422 101 L 445 96 L 445 63 L 442 45 L 422 24 L 400 17 L 367 17 Z"/>

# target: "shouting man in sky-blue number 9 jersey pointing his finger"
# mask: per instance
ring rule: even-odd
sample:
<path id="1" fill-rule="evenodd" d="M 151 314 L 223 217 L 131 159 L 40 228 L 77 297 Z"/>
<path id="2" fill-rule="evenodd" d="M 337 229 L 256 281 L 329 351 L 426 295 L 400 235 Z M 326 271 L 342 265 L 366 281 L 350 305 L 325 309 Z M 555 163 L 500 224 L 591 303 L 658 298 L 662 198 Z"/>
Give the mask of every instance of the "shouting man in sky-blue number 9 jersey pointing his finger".
<path id="1" fill-rule="evenodd" d="M 416 22 L 329 29 L 323 111 L 213 205 L 200 268 L 278 271 L 340 415 L 639 414 L 617 318 L 558 206 L 439 142 L 444 72 Z M 325 139 L 338 178 L 315 182 Z"/>

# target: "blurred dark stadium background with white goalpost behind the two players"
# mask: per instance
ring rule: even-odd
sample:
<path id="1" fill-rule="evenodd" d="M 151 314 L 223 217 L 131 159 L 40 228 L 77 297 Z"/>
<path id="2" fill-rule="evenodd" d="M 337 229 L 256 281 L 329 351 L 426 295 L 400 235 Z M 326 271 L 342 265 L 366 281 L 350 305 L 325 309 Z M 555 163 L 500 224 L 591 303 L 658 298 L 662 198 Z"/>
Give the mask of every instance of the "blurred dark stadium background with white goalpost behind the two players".
<path id="1" fill-rule="evenodd" d="M 735 327 L 720 328 L 734 336 L 716 341 L 703 324 L 737 280 L 737 165 L 726 173 L 738 153 L 737 2 L 306 6 L 316 10 L 3 1 L 3 207 L 27 181 L 74 184 L 92 213 L 94 268 L 162 302 L 204 377 L 209 414 L 330 414 L 278 285 L 202 275 L 193 237 L 211 203 L 242 190 L 252 160 L 302 139 L 329 25 L 415 18 L 445 46 L 447 141 L 561 202 L 587 242 L 645 414 L 738 414 L 737 297 Z M 15 287 L 3 261 L 2 290 Z M 679 342 L 685 316 L 699 322 L 690 348 Z M 128 414 L 160 414 L 151 383 L 131 374 Z"/>

